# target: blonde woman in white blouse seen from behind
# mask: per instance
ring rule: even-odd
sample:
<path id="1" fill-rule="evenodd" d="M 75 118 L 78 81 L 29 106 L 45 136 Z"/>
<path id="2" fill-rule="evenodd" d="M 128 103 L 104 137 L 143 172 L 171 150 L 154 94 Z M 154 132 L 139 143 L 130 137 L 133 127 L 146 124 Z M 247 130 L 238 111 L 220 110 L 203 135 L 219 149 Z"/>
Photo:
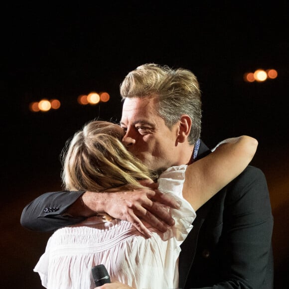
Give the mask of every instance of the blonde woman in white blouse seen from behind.
<path id="1" fill-rule="evenodd" d="M 93 121 L 76 133 L 63 158 L 68 190 L 111 191 L 139 188 L 157 178 L 121 143 L 122 129 Z M 94 288 L 91 269 L 104 264 L 111 280 L 134 288 L 177 288 L 180 244 L 192 229 L 195 211 L 248 165 L 257 141 L 240 137 L 224 141 L 193 164 L 174 166 L 157 179 L 180 209 L 171 209 L 175 225 L 167 232 L 152 228 L 149 239 L 127 221 L 98 215 L 57 230 L 34 268 L 46 288 Z"/>

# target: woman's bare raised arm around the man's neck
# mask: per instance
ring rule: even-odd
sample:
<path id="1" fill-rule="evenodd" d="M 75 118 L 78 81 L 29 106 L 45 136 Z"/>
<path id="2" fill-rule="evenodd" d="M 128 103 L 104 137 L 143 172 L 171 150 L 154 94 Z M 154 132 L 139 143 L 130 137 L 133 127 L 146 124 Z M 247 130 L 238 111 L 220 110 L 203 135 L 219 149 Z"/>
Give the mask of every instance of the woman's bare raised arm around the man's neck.
<path id="1" fill-rule="evenodd" d="M 183 197 L 196 211 L 246 168 L 257 146 L 257 140 L 248 136 L 222 141 L 212 153 L 187 167 Z"/>

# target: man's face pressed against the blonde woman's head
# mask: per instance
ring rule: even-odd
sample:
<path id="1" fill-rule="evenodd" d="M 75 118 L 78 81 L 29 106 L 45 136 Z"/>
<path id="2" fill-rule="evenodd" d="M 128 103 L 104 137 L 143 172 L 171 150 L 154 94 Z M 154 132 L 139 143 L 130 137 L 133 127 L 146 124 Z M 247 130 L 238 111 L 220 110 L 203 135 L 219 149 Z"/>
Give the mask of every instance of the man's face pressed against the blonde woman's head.
<path id="1" fill-rule="evenodd" d="M 178 124 L 171 130 L 155 110 L 154 98 L 127 98 L 123 106 L 121 127 L 123 143 L 146 166 L 163 171 L 177 165 Z"/>

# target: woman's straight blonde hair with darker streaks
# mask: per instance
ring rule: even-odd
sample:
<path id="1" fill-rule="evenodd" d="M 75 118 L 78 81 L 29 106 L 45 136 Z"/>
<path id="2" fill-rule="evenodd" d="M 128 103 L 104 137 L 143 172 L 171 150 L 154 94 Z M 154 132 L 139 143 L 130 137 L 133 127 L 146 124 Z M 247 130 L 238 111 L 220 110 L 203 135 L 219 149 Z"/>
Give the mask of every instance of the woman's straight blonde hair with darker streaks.
<path id="1" fill-rule="evenodd" d="M 142 187 L 138 180 L 152 172 L 121 140 L 120 126 L 92 121 L 75 133 L 62 153 L 62 181 L 66 190 L 103 191 L 129 186 Z"/>

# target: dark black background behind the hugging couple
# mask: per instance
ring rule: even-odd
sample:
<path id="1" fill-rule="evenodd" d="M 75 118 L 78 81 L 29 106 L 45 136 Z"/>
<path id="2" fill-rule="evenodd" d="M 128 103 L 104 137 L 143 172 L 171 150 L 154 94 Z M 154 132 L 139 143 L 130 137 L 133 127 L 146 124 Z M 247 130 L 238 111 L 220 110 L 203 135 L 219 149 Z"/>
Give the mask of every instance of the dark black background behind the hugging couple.
<path id="1" fill-rule="evenodd" d="M 196 74 L 206 144 L 258 139 L 252 164 L 270 190 L 275 288 L 288 286 L 288 1 L 22 1 L 1 10 L 2 286 L 41 288 L 33 268 L 50 234 L 22 228 L 22 209 L 61 189 L 59 155 L 76 130 L 94 118 L 120 120 L 119 85 L 147 62 Z M 257 68 L 274 68 L 278 78 L 244 82 Z M 111 99 L 80 106 L 77 97 L 91 91 Z M 30 112 L 29 103 L 42 98 L 62 105 Z"/>

